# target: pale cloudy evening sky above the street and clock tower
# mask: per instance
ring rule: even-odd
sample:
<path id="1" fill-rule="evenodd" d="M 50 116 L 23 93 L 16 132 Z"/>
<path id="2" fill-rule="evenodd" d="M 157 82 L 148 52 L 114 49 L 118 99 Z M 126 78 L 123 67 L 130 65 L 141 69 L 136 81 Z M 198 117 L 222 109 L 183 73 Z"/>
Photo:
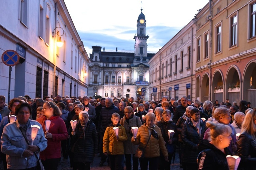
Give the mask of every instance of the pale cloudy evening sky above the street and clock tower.
<path id="1" fill-rule="evenodd" d="M 137 19 L 143 8 L 147 51 L 157 52 L 191 21 L 209 0 L 64 0 L 89 55 L 91 46 L 105 51 L 134 50 Z"/>

